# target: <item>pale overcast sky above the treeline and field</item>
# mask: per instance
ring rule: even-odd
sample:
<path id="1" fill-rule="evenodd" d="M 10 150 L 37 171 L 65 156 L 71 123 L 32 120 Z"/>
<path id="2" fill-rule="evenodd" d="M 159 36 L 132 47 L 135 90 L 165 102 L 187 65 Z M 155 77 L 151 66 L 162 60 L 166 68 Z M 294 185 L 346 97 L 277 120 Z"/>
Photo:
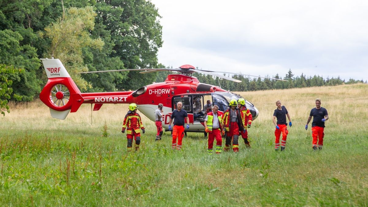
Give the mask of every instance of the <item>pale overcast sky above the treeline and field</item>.
<path id="1" fill-rule="evenodd" d="M 152 0 L 159 63 L 284 77 L 368 80 L 368 1 Z"/>

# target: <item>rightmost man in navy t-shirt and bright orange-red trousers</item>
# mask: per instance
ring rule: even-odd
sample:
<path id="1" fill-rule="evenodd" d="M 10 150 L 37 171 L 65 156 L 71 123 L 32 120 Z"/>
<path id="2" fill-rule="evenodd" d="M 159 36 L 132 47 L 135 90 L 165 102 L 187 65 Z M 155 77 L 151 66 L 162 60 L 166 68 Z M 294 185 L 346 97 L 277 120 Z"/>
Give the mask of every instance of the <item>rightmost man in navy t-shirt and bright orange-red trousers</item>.
<path id="1" fill-rule="evenodd" d="M 313 122 L 312 122 L 312 147 L 314 150 L 317 150 L 317 147 L 319 150 L 322 150 L 323 146 L 323 137 L 325 136 L 324 130 L 325 130 L 325 121 L 328 120 L 328 113 L 327 110 L 323 107 L 321 107 L 321 99 L 316 99 L 316 108 L 313 108 L 311 110 L 311 113 L 309 113 L 309 117 L 307 120 L 307 125 L 305 125 L 305 130 L 308 129 L 308 124 L 311 121 L 313 116 Z M 318 140 L 318 145 L 317 145 Z"/>

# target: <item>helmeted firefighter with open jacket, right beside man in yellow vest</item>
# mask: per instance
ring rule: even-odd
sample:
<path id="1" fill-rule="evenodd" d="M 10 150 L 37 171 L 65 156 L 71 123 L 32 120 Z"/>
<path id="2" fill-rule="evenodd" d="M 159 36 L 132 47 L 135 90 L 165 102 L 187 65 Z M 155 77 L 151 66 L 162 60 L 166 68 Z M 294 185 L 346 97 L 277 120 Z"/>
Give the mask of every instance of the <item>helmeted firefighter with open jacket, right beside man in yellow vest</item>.
<path id="1" fill-rule="evenodd" d="M 230 108 L 226 109 L 222 115 L 222 123 L 226 131 L 224 151 L 230 150 L 231 142 L 233 143 L 233 151 L 239 151 L 239 132 L 244 130 L 244 126 L 237 105 L 238 102 L 235 99 L 231 99 L 229 103 Z"/>

